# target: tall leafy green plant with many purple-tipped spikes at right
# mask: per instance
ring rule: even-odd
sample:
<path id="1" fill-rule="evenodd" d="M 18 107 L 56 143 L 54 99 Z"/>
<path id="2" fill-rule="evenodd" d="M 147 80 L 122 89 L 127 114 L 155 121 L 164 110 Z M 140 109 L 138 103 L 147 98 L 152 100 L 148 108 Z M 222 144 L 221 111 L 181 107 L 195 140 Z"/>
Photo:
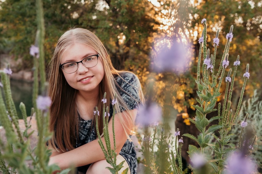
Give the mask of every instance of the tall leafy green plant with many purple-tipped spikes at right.
<path id="1" fill-rule="evenodd" d="M 231 166 L 230 160 L 226 160 L 226 155 L 232 151 L 238 151 L 238 153 L 243 154 L 244 156 L 250 153 L 250 149 L 247 151 L 243 151 L 243 146 L 253 146 L 256 136 L 252 137 L 252 141 L 248 141 L 247 137 L 244 137 L 241 133 L 239 137 L 239 144 L 237 148 L 231 148 L 230 138 L 233 134 L 229 134 L 231 127 L 234 125 L 236 117 L 238 116 L 239 109 L 242 103 L 243 94 L 245 90 L 245 85 L 247 79 L 249 78 L 249 64 L 247 64 L 247 68 L 245 73 L 243 74 L 244 83 L 242 86 L 241 95 L 238 101 L 237 109 L 233 113 L 231 109 L 231 97 L 234 85 L 234 79 L 236 75 L 236 70 L 238 65 L 240 64 L 239 56 L 237 60 L 233 63 L 234 71 L 233 76 L 231 76 L 232 69 L 228 69 L 228 74 L 225 75 L 226 69 L 229 66 L 228 56 L 229 56 L 229 47 L 233 38 L 233 26 L 230 28 L 230 32 L 226 35 L 227 43 L 223 52 L 222 59 L 220 60 L 220 66 L 218 72 L 215 73 L 214 66 L 216 60 L 216 51 L 217 46 L 219 46 L 219 30 L 216 33 L 216 37 L 213 39 L 214 43 L 214 55 L 210 56 L 210 50 L 207 49 L 206 46 L 206 19 L 203 19 L 201 23 L 204 24 L 204 30 L 202 33 L 202 37 L 199 39 L 200 50 L 198 56 L 198 69 L 197 69 L 197 79 L 196 84 L 198 86 L 198 91 L 196 91 L 198 98 L 196 101 L 197 105 L 193 107 L 196 109 L 196 116 L 191 119 L 188 118 L 193 124 L 195 124 L 196 128 L 200 131 L 200 134 L 195 137 L 191 134 L 184 134 L 183 136 L 189 137 L 196 141 L 200 148 L 189 145 L 188 154 L 190 159 L 192 160 L 196 154 L 199 155 L 202 159 L 209 163 L 215 173 L 222 173 L 222 171 L 226 171 L 230 173 L 231 168 L 225 166 Z M 203 59 L 202 57 L 202 49 L 203 49 Z M 200 75 L 200 65 L 202 64 L 202 75 Z M 218 103 L 218 109 L 215 109 L 217 103 L 217 97 L 221 95 L 220 87 L 222 81 L 226 82 L 226 90 L 225 90 L 225 99 L 223 101 L 222 109 L 221 103 Z M 217 111 L 217 112 L 216 112 Z M 213 114 L 210 119 L 207 118 L 207 114 Z M 218 120 L 219 124 L 213 124 L 214 120 Z M 247 124 L 247 116 L 242 122 L 241 127 L 246 126 Z M 211 126 L 209 126 L 211 125 Z M 237 125 L 236 125 L 237 126 Z M 243 131 L 242 129 L 242 131 Z M 214 134 L 214 131 L 218 131 L 219 136 Z M 216 139 L 215 142 L 209 142 L 210 138 L 214 137 Z M 244 145 L 243 142 L 245 141 Z M 214 152 L 215 156 L 213 159 L 209 159 L 204 156 L 205 148 L 210 146 Z M 242 156 L 243 156 L 242 155 Z M 193 170 L 198 171 L 198 165 L 193 165 Z M 236 166 L 237 167 L 237 166 Z M 246 166 L 248 167 L 248 166 Z"/>

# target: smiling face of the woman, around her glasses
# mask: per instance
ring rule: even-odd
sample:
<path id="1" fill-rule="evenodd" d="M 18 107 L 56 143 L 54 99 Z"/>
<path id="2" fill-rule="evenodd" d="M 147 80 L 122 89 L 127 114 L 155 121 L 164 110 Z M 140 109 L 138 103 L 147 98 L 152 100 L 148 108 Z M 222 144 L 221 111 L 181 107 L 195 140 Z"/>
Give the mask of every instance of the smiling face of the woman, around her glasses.
<path id="1" fill-rule="evenodd" d="M 60 64 L 67 62 L 79 62 L 85 57 L 97 55 L 98 52 L 92 47 L 85 44 L 74 44 L 70 46 L 61 57 Z M 62 72 L 67 83 L 79 92 L 98 93 L 99 84 L 104 77 L 104 67 L 101 61 L 102 57 L 98 57 L 97 65 L 92 68 L 86 68 L 82 63 L 78 63 L 78 69 L 74 73 L 68 74 L 63 69 Z"/>

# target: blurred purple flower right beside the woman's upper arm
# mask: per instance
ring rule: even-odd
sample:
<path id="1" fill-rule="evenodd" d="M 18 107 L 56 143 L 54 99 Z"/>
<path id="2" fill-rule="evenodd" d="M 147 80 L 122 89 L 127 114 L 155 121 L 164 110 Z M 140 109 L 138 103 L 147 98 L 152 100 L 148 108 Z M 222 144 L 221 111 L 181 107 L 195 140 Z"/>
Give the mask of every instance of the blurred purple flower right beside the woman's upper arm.
<path id="1" fill-rule="evenodd" d="M 136 122 L 141 126 L 153 125 L 155 122 L 159 122 L 162 116 L 161 107 L 156 103 L 149 103 L 141 105 L 138 108 L 138 116 Z"/>

